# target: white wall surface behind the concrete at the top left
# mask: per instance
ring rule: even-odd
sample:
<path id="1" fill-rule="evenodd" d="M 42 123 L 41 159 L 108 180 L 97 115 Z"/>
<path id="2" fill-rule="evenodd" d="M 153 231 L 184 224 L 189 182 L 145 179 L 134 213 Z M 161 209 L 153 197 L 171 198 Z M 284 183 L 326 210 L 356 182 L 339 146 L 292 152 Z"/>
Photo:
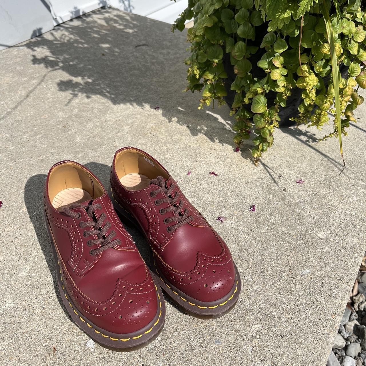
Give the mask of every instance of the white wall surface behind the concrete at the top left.
<path id="1" fill-rule="evenodd" d="M 0 50 L 103 6 L 173 23 L 188 0 L 0 0 Z"/>

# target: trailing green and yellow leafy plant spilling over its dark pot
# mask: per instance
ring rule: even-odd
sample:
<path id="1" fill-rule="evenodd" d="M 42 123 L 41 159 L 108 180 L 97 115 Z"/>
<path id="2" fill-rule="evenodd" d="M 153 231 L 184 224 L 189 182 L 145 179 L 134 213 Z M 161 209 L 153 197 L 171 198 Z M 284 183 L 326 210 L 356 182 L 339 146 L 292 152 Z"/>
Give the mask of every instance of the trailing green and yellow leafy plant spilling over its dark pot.
<path id="1" fill-rule="evenodd" d="M 172 30 L 192 18 L 187 90 L 202 92 L 199 109 L 235 92 L 237 146 L 254 136 L 252 155 L 261 157 L 299 94 L 292 120 L 321 129 L 333 115 L 334 131 L 324 138 L 339 136 L 343 157 L 341 135 L 363 102 L 358 89 L 366 89 L 361 0 L 189 0 Z"/>

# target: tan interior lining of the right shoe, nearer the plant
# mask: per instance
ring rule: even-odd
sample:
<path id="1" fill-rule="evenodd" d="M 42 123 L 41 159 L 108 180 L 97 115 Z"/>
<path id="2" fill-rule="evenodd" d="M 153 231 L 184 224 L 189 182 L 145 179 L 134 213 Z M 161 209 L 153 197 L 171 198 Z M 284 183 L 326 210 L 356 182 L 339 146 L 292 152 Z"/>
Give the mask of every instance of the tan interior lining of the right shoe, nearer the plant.
<path id="1" fill-rule="evenodd" d="M 145 154 L 136 150 L 122 150 L 115 160 L 117 177 L 128 190 L 136 191 L 149 186 L 150 180 L 168 173 Z"/>

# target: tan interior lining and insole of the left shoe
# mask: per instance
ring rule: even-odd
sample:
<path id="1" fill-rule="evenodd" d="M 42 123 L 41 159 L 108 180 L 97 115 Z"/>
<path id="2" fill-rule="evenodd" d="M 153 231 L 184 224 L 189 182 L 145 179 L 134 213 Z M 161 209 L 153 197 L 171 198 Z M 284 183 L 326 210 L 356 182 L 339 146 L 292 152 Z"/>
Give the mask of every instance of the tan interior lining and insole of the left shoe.
<path id="1" fill-rule="evenodd" d="M 55 209 L 60 210 L 65 204 L 96 199 L 103 194 L 101 184 L 89 172 L 74 163 L 56 166 L 49 176 L 48 197 Z M 81 199 L 83 201 L 80 201 Z"/>

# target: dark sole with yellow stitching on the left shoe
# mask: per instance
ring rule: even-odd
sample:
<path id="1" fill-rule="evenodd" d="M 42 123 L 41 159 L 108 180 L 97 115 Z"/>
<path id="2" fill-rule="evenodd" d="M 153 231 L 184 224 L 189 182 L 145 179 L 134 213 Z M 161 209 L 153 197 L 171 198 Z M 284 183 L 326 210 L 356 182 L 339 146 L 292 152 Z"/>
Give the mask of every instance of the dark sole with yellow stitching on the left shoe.
<path id="1" fill-rule="evenodd" d="M 78 308 L 72 302 L 72 298 L 68 295 L 65 286 L 63 285 L 63 277 L 61 275 L 61 268 L 59 258 L 57 256 L 55 244 L 53 242 L 53 237 L 51 230 L 49 228 L 48 219 L 45 214 L 45 223 L 47 232 L 51 241 L 51 247 L 53 252 L 53 257 L 55 258 L 55 264 L 57 269 L 57 281 L 59 284 L 59 290 L 61 294 L 62 301 L 66 307 L 67 312 L 70 314 L 72 320 L 76 325 L 79 326 L 91 339 L 96 343 L 100 344 L 102 347 L 109 348 L 113 351 L 134 351 L 139 348 L 145 347 L 147 344 L 151 343 L 163 329 L 165 322 L 165 302 L 163 293 L 161 292 L 159 282 L 156 275 L 150 273 L 154 280 L 156 292 L 157 292 L 157 302 L 158 310 L 153 318 L 153 320 L 147 324 L 144 328 L 138 330 L 137 332 L 127 333 L 127 334 L 117 334 L 108 332 L 105 329 L 98 327 L 88 320 Z"/>

